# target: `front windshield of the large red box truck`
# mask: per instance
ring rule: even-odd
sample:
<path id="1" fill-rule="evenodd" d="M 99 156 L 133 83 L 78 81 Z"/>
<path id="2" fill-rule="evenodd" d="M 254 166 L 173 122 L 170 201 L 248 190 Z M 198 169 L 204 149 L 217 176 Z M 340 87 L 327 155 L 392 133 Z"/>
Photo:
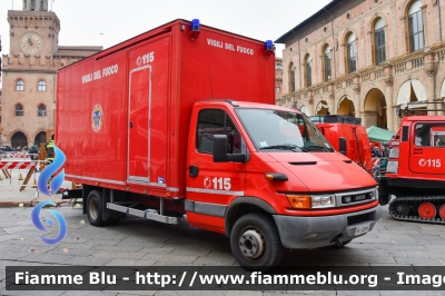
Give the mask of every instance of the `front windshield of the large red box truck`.
<path id="1" fill-rule="evenodd" d="M 258 151 L 334 151 L 305 115 L 247 108 L 237 108 L 236 112 Z"/>

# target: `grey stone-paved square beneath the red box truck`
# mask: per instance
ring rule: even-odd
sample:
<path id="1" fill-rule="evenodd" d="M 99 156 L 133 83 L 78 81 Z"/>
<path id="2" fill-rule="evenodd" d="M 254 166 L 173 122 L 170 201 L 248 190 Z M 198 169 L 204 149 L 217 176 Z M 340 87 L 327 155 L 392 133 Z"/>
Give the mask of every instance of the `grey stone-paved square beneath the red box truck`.
<path id="1" fill-rule="evenodd" d="M 81 208 L 59 207 L 67 220 L 66 238 L 44 245 L 32 225 L 32 208 L 0 208 L 0 294 L 28 295 L 4 287 L 6 266 L 233 266 L 237 265 L 226 236 L 184 223 L 165 225 L 127 218 L 102 228 L 89 224 Z M 43 209 L 46 211 L 46 209 Z M 43 215 L 43 213 L 41 213 Z M 50 215 L 49 215 L 50 216 Z M 43 217 L 43 216 L 42 216 Z M 56 226 L 55 226 L 56 227 Z M 58 233 L 58 229 L 51 229 Z M 284 265 L 308 266 L 444 266 L 445 227 L 393 220 L 387 208 L 376 227 L 344 248 L 287 251 Z M 419 295 L 418 292 L 32 292 L 32 295 Z M 441 294 L 442 293 L 442 294 Z M 30 293 L 29 293 L 30 294 Z M 424 292 L 423 295 L 445 295 Z"/>

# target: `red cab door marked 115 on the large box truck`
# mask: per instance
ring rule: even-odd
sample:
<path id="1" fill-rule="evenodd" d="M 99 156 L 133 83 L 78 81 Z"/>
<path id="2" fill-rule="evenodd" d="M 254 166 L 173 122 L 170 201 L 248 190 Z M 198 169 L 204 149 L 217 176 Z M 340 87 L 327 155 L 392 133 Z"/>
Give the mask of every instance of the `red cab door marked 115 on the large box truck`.
<path id="1" fill-rule="evenodd" d="M 227 136 L 227 152 L 246 150 L 239 129 L 229 114 L 222 109 L 201 109 L 189 142 L 187 178 L 187 220 L 190 225 L 224 231 L 227 205 L 245 194 L 246 165 L 240 162 L 214 162 L 214 136 Z M 191 136 L 191 135 L 190 135 Z M 195 147 L 190 147 L 195 146 Z"/>

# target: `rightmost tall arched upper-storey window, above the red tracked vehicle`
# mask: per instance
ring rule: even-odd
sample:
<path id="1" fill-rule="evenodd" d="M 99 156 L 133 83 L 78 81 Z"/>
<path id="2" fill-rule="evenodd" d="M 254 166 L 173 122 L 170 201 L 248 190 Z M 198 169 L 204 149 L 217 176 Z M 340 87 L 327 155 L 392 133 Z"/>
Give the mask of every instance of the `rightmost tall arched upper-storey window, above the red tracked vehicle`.
<path id="1" fill-rule="evenodd" d="M 424 48 L 424 20 L 422 17 L 422 2 L 414 1 L 408 10 L 409 49 L 411 52 Z"/>

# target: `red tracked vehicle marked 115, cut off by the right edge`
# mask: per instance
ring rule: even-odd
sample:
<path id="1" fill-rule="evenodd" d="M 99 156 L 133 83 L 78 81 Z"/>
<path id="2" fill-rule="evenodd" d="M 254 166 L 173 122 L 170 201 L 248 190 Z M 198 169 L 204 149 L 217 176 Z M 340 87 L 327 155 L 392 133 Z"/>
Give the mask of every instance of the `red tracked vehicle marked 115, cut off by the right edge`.
<path id="1" fill-rule="evenodd" d="M 411 102 L 398 110 L 404 117 L 389 142 L 386 176 L 379 180 L 380 204 L 390 201 L 389 214 L 395 219 L 444 225 L 445 117 L 427 116 L 444 110 L 431 105 L 443 103 Z M 396 198 L 390 200 L 392 196 Z"/>

